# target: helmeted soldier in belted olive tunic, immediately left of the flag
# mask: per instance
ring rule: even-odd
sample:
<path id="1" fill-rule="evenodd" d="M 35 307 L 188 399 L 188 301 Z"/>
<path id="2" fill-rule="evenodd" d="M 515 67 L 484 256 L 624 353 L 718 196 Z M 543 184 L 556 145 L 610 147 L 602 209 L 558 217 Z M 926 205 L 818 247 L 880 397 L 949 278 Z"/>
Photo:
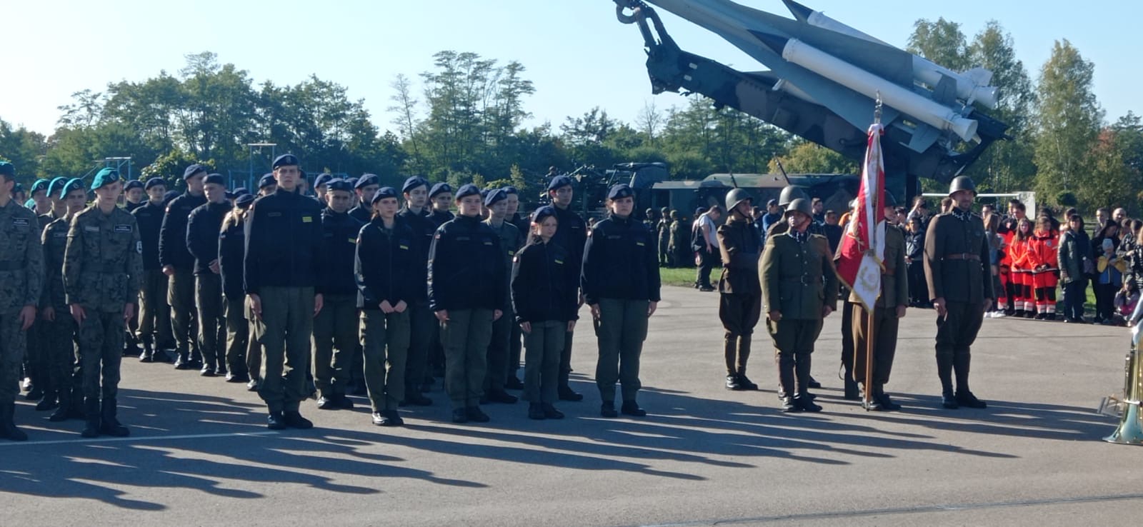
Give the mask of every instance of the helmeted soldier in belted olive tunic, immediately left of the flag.
<path id="1" fill-rule="evenodd" d="M 759 266 L 766 326 L 774 340 L 783 412 L 821 412 L 808 393 L 814 342 L 838 301 L 829 241 L 809 232 L 809 200 L 790 202 L 783 232 L 772 230 Z"/>

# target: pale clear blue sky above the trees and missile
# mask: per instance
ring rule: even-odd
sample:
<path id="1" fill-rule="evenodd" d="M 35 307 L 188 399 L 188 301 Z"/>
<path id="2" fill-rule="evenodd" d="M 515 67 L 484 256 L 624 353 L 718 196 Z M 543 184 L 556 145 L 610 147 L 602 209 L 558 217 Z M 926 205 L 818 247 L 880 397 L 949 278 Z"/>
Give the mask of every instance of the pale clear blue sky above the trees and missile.
<path id="1" fill-rule="evenodd" d="M 781 0 L 740 3 L 789 16 Z M 246 70 L 255 85 L 294 85 L 310 74 L 363 98 L 374 122 L 393 129 L 393 78 L 432 69 L 432 55 L 473 51 L 499 64 L 518 61 L 536 93 L 525 102 L 526 126 L 582 115 L 600 106 L 631 122 L 647 104 L 681 106 L 677 94 L 654 96 L 637 26 L 620 24 L 612 0 L 242 0 L 155 2 L 135 0 L 13 1 L 3 8 L 3 80 L 0 119 L 50 134 L 82 89 L 176 73 L 184 56 L 214 51 Z M 1095 63 L 1094 90 L 1106 120 L 1143 113 L 1137 0 L 1016 0 L 855 2 L 804 5 L 888 43 L 904 47 L 913 22 L 944 17 L 969 39 L 990 19 L 1012 33 L 1017 57 L 1033 80 L 1053 42 L 1068 39 Z M 1034 6 L 1032 8 L 1031 6 Z M 668 32 L 687 51 L 740 70 L 764 66 L 714 33 L 660 9 Z M 1129 43 L 1122 43 L 1129 42 Z M 418 97 L 423 99 L 422 97 Z M 109 153 L 109 155 L 112 153 Z"/>

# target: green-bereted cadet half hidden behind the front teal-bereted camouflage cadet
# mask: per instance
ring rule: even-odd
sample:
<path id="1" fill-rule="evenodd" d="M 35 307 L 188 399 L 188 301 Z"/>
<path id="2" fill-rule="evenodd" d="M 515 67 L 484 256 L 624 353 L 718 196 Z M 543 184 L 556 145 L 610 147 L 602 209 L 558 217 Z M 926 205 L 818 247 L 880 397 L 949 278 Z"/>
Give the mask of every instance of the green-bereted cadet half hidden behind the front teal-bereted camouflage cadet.
<path id="1" fill-rule="evenodd" d="M 87 205 L 87 189 L 83 181 L 75 178 L 64 185 L 61 193 L 67 206 L 67 214 L 54 219 L 43 230 L 43 295 L 40 302 L 40 324 L 45 328 L 45 352 L 48 366 L 47 400 L 55 397 L 59 401 L 49 421 L 82 417 L 83 392 L 75 382 L 75 319 L 71 317 L 64 295 L 64 250 L 67 248 L 67 231 L 71 219 Z"/>

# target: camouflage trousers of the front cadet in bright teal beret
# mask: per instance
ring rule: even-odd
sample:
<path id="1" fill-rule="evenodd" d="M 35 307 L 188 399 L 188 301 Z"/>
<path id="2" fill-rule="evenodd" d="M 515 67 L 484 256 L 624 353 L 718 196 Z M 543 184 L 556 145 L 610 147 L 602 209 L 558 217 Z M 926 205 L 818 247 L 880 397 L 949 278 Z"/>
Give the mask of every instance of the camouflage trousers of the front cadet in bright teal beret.
<path id="1" fill-rule="evenodd" d="M 85 308 L 79 325 L 79 360 L 87 400 L 114 399 L 119 393 L 119 365 L 123 359 L 123 313 Z M 102 378 L 101 378 L 102 377 Z"/>

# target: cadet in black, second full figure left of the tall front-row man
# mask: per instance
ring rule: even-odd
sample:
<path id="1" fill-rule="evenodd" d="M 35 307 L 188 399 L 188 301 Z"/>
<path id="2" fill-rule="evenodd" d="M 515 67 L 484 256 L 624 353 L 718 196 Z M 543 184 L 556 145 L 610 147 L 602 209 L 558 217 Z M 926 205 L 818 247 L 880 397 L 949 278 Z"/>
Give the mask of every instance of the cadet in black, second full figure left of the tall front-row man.
<path id="1" fill-rule="evenodd" d="M 226 375 L 226 310 L 222 302 L 218 270 L 218 233 L 233 208 L 226 201 L 226 181 L 210 174 L 202 181 L 207 202 L 191 210 L 186 221 L 186 248 L 194 256 L 194 303 L 199 309 L 199 349 L 203 377 Z"/>

